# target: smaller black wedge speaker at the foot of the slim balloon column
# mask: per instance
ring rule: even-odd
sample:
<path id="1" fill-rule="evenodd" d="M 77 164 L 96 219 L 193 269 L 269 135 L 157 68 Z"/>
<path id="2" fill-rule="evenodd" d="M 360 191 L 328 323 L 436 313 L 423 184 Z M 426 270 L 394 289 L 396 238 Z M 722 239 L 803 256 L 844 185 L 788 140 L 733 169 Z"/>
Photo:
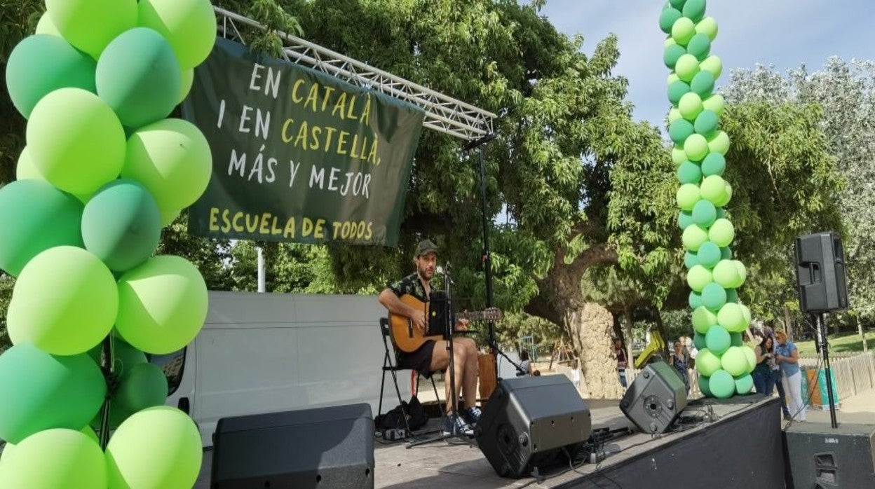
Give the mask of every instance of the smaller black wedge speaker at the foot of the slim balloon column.
<path id="1" fill-rule="evenodd" d="M 650 363 L 620 400 L 620 410 L 645 433 L 669 429 L 687 407 L 687 387 L 675 367 L 664 361 Z"/>

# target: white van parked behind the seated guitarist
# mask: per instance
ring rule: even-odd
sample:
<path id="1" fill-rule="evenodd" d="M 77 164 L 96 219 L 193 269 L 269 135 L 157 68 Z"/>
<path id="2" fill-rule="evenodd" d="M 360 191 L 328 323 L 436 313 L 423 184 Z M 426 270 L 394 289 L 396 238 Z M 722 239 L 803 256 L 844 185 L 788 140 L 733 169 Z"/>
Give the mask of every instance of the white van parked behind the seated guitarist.
<path id="1" fill-rule="evenodd" d="M 222 417 L 354 402 L 376 416 L 386 316 L 376 297 L 210 292 L 209 300 L 198 337 L 151 358 L 167 374 L 167 403 L 193 417 L 205 447 Z M 405 400 L 409 384 L 399 378 Z M 387 375 L 382 409 L 397 404 Z"/>

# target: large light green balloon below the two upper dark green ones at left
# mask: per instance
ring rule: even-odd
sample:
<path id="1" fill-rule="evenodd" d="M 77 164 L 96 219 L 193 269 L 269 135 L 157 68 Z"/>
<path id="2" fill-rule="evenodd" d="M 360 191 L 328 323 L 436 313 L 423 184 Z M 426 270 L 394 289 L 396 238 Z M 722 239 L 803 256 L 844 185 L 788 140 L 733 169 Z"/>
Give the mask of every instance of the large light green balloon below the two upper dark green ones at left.
<path id="1" fill-rule="evenodd" d="M 26 132 L 33 164 L 65 192 L 92 194 L 122 171 L 122 123 L 86 90 L 60 88 L 45 95 L 33 108 Z"/>

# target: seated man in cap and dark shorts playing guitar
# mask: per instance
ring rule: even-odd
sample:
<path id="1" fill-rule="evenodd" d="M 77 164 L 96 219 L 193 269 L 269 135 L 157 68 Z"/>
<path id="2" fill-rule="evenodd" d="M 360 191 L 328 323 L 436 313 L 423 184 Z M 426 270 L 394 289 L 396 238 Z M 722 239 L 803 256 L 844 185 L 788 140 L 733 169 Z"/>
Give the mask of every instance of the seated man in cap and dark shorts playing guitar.
<path id="1" fill-rule="evenodd" d="M 427 306 L 431 296 L 431 279 L 435 275 L 437 266 L 437 245 L 430 240 L 420 241 L 416 246 L 416 255 L 413 258 L 416 272 L 405 276 L 401 280 L 389 285 L 380 293 L 378 300 L 390 315 L 408 318 L 412 328 L 415 328 L 417 336 L 426 336 L 428 329 L 427 311 L 425 308 L 416 308 L 402 301 L 402 297 L 413 296 L 417 301 Z M 455 331 L 465 332 L 468 329 L 468 320 L 458 319 Z M 395 338 L 393 337 L 393 341 Z M 422 346 L 412 352 L 404 352 L 395 347 L 400 367 L 412 368 L 428 378 L 433 372 L 447 370 L 450 365 L 450 357 L 446 343 L 435 339 L 425 339 Z M 473 436 L 472 427 L 476 426 L 480 418 L 480 409 L 477 402 L 477 346 L 470 338 L 453 338 L 452 355 L 456 393 L 462 393 L 465 406 L 456 412 L 460 416 L 452 415 L 450 402 L 447 402 L 447 416 L 444 418 L 444 435 L 465 434 Z M 446 399 L 451 400 L 450 377 L 446 379 Z"/>

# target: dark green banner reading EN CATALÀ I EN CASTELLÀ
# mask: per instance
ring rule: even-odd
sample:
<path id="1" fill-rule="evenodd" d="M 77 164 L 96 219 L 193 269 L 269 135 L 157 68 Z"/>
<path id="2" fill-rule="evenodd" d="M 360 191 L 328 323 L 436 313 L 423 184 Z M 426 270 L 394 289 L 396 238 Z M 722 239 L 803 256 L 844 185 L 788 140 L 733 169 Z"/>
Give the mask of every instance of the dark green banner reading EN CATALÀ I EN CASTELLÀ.
<path id="1" fill-rule="evenodd" d="M 219 38 L 182 114 L 213 150 L 191 233 L 397 244 L 421 109 Z"/>

